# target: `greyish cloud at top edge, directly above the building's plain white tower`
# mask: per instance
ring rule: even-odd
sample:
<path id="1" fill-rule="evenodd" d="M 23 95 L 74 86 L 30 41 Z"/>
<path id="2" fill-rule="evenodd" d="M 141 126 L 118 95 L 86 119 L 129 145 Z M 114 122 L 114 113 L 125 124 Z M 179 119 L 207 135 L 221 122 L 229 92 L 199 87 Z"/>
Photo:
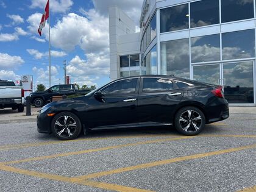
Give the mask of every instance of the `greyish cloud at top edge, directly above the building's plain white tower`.
<path id="1" fill-rule="evenodd" d="M 95 9 L 102 15 L 108 16 L 108 7 L 117 5 L 138 25 L 140 21 L 143 0 L 116 1 L 116 0 L 93 0 Z"/>

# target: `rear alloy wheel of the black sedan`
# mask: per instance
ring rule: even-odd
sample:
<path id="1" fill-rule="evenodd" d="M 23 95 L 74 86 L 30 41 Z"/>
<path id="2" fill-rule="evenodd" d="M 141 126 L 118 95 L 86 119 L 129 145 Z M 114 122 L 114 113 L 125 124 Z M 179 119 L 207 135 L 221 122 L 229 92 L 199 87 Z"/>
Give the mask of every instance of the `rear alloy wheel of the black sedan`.
<path id="1" fill-rule="evenodd" d="M 186 110 L 180 115 L 179 123 L 185 132 L 196 132 L 201 128 L 202 117 L 194 110 Z"/>

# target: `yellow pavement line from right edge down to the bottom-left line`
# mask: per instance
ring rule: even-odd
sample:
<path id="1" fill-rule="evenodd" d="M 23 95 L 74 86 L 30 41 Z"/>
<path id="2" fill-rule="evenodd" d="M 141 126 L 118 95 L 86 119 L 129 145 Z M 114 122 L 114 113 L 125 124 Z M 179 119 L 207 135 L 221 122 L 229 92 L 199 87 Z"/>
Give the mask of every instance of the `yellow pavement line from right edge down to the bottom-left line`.
<path id="1" fill-rule="evenodd" d="M 192 160 L 192 159 L 196 159 L 196 158 L 209 157 L 209 156 L 213 156 L 213 155 L 221 155 L 221 154 L 226 154 L 226 153 L 235 152 L 235 151 L 241 151 L 244 149 L 252 149 L 252 148 L 256 148 L 256 144 L 252 144 L 249 146 L 242 146 L 239 148 L 230 148 L 230 149 L 224 149 L 224 150 L 220 150 L 220 151 L 206 152 L 203 154 L 195 154 L 195 155 L 188 155 L 188 156 L 177 157 L 177 158 L 170 158 L 168 160 L 160 160 L 157 162 L 144 163 L 144 164 L 135 165 L 135 166 L 128 166 L 128 167 L 124 167 L 124 168 L 113 169 L 110 171 L 96 172 L 96 173 L 88 174 L 85 176 L 73 177 L 72 180 L 77 181 L 77 180 L 91 179 L 91 178 L 95 178 L 95 177 L 108 176 L 108 175 L 112 175 L 112 174 L 118 174 L 121 172 L 134 171 L 137 169 L 144 169 L 144 168 L 151 168 L 154 166 L 166 165 L 169 163 L 182 162 L 182 161 Z"/>

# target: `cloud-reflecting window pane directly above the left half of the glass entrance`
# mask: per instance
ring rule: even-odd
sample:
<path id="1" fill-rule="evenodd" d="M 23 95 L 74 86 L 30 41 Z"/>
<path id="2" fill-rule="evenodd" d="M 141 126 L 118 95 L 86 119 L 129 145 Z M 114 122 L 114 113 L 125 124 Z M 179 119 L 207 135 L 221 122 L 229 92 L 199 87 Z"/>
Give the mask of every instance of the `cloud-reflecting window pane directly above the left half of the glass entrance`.
<path id="1" fill-rule="evenodd" d="M 212 62 L 221 58 L 219 34 L 191 38 L 191 62 Z"/>

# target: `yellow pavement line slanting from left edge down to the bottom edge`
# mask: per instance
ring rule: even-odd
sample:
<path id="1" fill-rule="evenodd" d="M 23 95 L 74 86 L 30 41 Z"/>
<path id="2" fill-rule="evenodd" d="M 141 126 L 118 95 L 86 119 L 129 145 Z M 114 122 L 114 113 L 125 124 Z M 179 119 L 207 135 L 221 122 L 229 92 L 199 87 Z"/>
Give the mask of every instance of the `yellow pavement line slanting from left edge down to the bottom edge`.
<path id="1" fill-rule="evenodd" d="M 146 191 L 148 191 L 148 190 L 141 190 L 141 189 L 133 188 L 133 187 L 126 187 L 123 185 L 94 182 L 94 181 L 89 181 L 89 180 L 83 180 L 83 181 L 76 182 L 76 181 L 72 181 L 71 177 L 58 176 L 58 175 L 54 175 L 54 174 L 47 174 L 44 172 L 29 171 L 26 169 L 14 168 L 12 166 L 3 165 L 2 163 L 0 164 L 0 170 L 15 172 L 15 173 L 23 174 L 26 176 L 38 177 L 41 179 L 49 179 L 49 180 L 57 180 L 60 182 L 76 183 L 79 185 L 86 185 L 89 187 L 102 188 L 104 190 L 115 190 L 115 191 L 123 191 L 123 192 L 129 192 L 129 191 L 131 191 L 131 192 L 146 192 Z M 150 192 L 150 191 L 148 191 L 148 192 Z"/>

